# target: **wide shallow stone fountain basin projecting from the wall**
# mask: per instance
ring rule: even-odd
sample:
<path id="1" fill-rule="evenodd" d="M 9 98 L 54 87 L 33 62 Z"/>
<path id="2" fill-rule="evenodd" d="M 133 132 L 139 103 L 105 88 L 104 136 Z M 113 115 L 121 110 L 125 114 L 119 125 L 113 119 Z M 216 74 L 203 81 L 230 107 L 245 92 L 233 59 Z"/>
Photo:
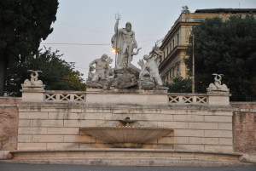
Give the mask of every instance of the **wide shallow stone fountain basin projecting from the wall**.
<path id="1" fill-rule="evenodd" d="M 80 130 L 106 143 L 148 143 L 173 132 L 172 128 L 83 127 Z"/>

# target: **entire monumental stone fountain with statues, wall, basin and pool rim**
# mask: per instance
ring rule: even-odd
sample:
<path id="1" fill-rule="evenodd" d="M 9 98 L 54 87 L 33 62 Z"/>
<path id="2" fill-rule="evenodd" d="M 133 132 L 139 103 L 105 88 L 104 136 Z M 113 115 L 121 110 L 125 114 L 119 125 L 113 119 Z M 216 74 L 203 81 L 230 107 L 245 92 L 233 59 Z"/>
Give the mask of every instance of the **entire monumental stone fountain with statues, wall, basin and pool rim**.
<path id="1" fill-rule="evenodd" d="M 157 47 L 143 55 L 139 69 L 131 64 L 139 50 L 131 23 L 118 29 L 117 22 L 111 42 L 115 68 L 107 54 L 90 62 L 86 92 L 45 91 L 37 73 L 25 81 L 17 151 L 10 158 L 106 165 L 239 161 L 232 153 L 230 93 L 220 74 L 207 94 L 167 94 Z"/>

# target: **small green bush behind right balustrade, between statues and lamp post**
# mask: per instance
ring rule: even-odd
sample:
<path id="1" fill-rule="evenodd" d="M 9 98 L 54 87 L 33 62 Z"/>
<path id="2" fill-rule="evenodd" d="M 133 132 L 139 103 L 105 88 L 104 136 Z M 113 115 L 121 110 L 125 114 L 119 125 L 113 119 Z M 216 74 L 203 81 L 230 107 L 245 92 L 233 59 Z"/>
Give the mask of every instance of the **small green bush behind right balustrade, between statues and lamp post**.
<path id="1" fill-rule="evenodd" d="M 191 79 L 183 77 L 173 77 L 172 83 L 166 83 L 169 93 L 191 93 Z"/>

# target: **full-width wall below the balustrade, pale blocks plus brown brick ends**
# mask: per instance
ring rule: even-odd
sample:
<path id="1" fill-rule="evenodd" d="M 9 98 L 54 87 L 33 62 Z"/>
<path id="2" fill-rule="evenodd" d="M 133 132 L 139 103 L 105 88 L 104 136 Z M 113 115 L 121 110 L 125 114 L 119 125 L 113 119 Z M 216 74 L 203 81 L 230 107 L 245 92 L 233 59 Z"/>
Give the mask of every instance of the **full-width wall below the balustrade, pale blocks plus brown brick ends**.
<path id="1" fill-rule="evenodd" d="M 19 102 L 20 98 L 0 98 L 0 158 L 17 149 L 17 144 L 18 149 L 112 147 L 79 128 L 113 125 L 125 117 L 140 120 L 143 126 L 174 129 L 143 148 L 232 151 L 234 145 L 236 152 L 256 153 L 255 102 L 233 102 L 231 110 L 223 106 L 21 102 L 20 116 Z"/>

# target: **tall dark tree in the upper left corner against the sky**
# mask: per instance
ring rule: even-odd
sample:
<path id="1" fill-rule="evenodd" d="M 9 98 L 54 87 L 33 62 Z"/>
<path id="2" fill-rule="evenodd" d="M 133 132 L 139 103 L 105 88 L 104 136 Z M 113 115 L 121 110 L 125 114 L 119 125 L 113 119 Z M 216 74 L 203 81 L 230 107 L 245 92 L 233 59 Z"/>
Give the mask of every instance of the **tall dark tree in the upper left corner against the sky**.
<path id="1" fill-rule="evenodd" d="M 0 96 L 9 60 L 24 61 L 53 31 L 57 0 L 0 1 Z"/>

